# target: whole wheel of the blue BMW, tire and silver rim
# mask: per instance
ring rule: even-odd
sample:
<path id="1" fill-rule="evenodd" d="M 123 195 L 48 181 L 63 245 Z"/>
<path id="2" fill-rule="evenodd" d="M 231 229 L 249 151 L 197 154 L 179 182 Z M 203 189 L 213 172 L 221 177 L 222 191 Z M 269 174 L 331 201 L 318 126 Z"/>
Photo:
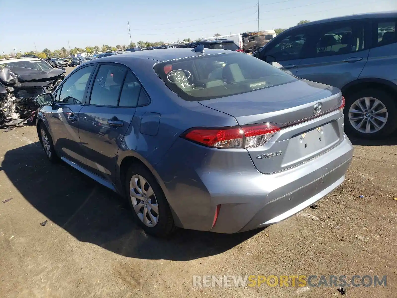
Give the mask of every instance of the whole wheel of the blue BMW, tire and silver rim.
<path id="1" fill-rule="evenodd" d="M 364 89 L 346 96 L 345 129 L 366 139 L 392 134 L 397 128 L 397 104 L 391 94 Z"/>

